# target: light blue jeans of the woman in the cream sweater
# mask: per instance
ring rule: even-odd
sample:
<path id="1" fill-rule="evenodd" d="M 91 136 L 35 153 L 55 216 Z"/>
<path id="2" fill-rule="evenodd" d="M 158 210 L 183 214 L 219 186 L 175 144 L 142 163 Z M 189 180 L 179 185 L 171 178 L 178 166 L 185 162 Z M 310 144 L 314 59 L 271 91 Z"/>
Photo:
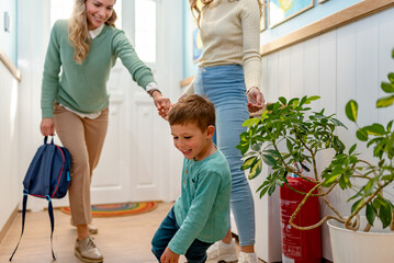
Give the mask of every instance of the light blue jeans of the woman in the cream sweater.
<path id="1" fill-rule="evenodd" d="M 216 111 L 216 145 L 227 159 L 232 172 L 232 210 L 240 245 L 255 244 L 255 204 L 248 180 L 240 170 L 241 155 L 235 147 L 246 132 L 249 117 L 244 69 L 239 65 L 199 68 L 194 92 L 207 96 Z"/>

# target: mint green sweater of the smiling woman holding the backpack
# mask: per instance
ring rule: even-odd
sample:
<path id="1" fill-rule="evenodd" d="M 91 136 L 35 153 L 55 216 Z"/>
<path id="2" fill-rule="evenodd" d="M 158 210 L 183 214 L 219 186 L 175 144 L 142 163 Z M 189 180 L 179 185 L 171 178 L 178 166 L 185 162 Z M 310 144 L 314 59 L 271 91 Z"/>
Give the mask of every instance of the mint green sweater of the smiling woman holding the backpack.
<path id="1" fill-rule="evenodd" d="M 144 89 L 155 82 L 150 69 L 138 58 L 123 31 L 104 25 L 91 39 L 89 54 L 81 65 L 74 60 L 66 20 L 52 28 L 42 83 L 42 117 L 53 117 L 55 101 L 80 113 L 95 113 L 109 106 L 106 81 L 116 58 Z M 61 75 L 60 75 L 61 69 Z"/>

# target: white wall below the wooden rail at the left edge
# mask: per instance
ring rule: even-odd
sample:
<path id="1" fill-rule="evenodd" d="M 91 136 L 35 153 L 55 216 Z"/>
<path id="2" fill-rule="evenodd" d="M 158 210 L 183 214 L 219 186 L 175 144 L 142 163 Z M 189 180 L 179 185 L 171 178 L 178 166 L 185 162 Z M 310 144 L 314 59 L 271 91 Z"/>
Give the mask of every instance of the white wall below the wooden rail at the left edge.
<path id="1" fill-rule="evenodd" d="M 18 176 L 18 81 L 0 61 L 0 230 L 22 196 Z"/>

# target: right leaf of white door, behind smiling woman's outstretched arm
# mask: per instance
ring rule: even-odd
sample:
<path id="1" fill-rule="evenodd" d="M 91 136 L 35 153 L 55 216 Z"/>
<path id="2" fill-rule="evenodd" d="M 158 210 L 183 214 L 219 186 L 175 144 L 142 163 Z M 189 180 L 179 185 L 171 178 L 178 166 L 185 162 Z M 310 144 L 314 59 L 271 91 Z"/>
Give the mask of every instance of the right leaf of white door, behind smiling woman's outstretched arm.
<path id="1" fill-rule="evenodd" d="M 181 2 L 177 2 L 181 7 Z M 181 44 L 182 38 L 181 9 L 168 15 L 168 9 L 173 9 L 175 4 L 173 0 L 122 2 L 122 27 L 167 96 L 173 93 L 169 88 L 179 90 L 182 69 L 181 62 L 169 62 L 181 61 L 181 55 L 175 55 L 176 42 Z M 166 26 L 173 24 L 177 26 Z M 177 30 L 178 38 L 168 37 L 168 33 Z M 172 52 L 166 52 L 166 46 Z M 93 174 L 92 203 L 175 199 L 179 193 L 181 156 L 172 147 L 168 123 L 158 116 L 151 98 L 133 81 L 120 60 L 112 70 L 108 88 L 110 125 Z"/>

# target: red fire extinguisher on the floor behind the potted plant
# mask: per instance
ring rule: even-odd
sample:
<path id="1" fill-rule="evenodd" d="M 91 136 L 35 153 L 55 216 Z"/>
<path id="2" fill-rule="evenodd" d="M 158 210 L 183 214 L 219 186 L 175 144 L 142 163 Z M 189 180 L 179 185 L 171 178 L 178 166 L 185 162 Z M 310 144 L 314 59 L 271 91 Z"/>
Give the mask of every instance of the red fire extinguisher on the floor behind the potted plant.
<path id="1" fill-rule="evenodd" d="M 309 192 L 315 184 L 299 176 L 288 176 L 289 185 L 300 192 Z M 317 193 L 317 192 L 316 192 Z M 289 220 L 305 195 L 296 193 L 283 184 L 281 197 L 282 263 L 320 263 L 320 228 L 297 230 Z M 318 197 L 311 196 L 301 208 L 293 222 L 300 227 L 319 221 Z"/>

